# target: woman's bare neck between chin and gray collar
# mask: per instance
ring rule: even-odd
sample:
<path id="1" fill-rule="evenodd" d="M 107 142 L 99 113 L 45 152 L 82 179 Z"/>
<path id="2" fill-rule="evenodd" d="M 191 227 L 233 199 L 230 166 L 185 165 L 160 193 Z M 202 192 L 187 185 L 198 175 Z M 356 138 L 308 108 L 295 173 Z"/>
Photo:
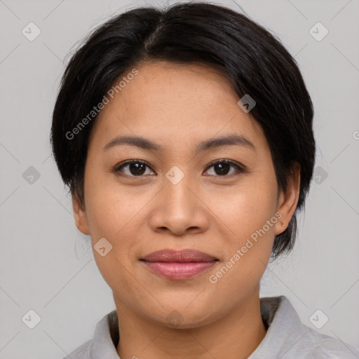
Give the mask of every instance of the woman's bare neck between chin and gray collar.
<path id="1" fill-rule="evenodd" d="M 169 328 L 131 311 L 114 297 L 120 342 L 118 356 L 156 359 L 241 359 L 255 351 L 266 334 L 259 306 L 259 288 L 247 302 L 201 327 Z"/>

